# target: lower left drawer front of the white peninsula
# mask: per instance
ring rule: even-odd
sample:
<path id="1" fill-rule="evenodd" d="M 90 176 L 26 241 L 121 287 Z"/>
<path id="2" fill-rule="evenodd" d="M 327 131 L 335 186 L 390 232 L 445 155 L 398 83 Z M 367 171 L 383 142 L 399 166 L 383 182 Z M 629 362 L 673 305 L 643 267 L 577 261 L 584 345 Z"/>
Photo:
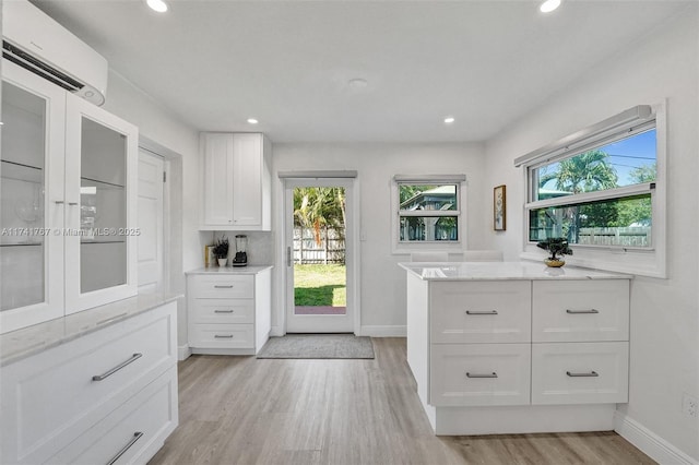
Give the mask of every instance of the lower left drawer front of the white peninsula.
<path id="1" fill-rule="evenodd" d="M 526 405 L 530 360 L 530 344 L 433 345 L 430 404 Z"/>

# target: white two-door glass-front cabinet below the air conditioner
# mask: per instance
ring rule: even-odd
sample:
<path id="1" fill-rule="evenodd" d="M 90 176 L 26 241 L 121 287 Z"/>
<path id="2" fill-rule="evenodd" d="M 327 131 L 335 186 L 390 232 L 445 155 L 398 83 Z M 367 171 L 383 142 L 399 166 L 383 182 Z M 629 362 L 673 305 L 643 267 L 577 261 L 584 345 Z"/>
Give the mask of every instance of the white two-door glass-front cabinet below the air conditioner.
<path id="1" fill-rule="evenodd" d="M 137 293 L 138 129 L 2 62 L 0 332 Z"/>

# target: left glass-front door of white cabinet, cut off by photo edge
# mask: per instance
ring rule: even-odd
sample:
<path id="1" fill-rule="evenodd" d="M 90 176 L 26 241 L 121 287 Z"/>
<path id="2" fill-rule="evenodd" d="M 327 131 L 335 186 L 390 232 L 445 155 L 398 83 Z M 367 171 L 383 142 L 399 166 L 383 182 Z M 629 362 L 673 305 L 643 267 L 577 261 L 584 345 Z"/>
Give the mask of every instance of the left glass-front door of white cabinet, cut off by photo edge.
<path id="1" fill-rule="evenodd" d="M 0 332 L 63 314 L 64 91 L 3 60 Z"/>

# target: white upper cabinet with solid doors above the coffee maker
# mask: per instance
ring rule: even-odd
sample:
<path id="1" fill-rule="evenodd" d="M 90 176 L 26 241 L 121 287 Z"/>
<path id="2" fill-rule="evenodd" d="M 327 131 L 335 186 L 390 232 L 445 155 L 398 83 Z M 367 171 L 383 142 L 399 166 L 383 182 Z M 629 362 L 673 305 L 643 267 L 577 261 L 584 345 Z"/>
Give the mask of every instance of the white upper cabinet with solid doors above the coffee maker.
<path id="1" fill-rule="evenodd" d="M 204 230 L 271 229 L 271 144 L 260 133 L 203 133 Z"/>

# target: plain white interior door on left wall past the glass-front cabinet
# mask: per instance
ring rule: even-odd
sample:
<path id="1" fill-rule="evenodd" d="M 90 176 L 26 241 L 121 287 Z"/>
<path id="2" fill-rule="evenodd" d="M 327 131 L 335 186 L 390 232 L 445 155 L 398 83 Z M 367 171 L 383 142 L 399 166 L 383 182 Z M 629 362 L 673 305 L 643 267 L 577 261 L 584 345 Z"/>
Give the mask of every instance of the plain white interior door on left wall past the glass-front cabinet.
<path id="1" fill-rule="evenodd" d="M 163 288 L 163 158 L 139 150 L 139 294 Z"/>

